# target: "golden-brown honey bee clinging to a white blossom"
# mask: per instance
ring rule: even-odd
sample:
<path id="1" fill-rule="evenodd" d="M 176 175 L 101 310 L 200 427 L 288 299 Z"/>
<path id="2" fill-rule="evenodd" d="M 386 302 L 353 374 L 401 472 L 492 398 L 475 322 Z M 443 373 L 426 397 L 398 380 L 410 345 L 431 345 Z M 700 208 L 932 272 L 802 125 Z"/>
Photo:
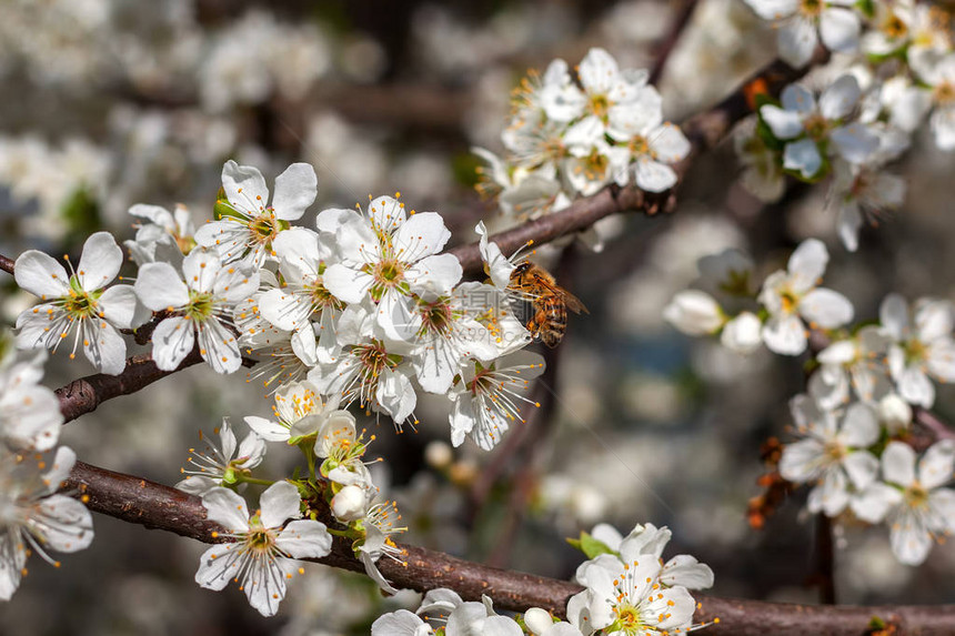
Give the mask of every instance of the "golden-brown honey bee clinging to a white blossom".
<path id="1" fill-rule="evenodd" d="M 534 340 L 540 339 L 552 349 L 564 337 L 567 310 L 577 314 L 590 313 L 576 296 L 557 285 L 554 276 L 546 270 L 529 261 L 514 267 L 507 289 L 531 302 L 533 315 L 525 326 Z"/>

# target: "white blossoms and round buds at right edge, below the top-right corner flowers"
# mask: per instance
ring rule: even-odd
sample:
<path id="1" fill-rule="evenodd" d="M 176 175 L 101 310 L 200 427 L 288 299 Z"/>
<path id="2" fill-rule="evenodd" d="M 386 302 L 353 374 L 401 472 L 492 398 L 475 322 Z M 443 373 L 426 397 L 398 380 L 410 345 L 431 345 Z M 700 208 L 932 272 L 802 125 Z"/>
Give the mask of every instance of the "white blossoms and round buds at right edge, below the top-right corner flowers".
<path id="1" fill-rule="evenodd" d="M 775 353 L 798 355 L 814 330 L 807 392 L 790 404 L 800 440 L 784 446 L 780 474 L 814 485 L 810 512 L 884 521 L 898 559 L 919 564 L 932 538 L 955 529 L 955 491 L 941 487 L 953 477 L 955 444 L 935 443 L 916 468 L 916 453 L 905 441 L 914 410 L 935 402 L 933 381 L 955 382 L 955 306 L 931 297 L 909 306 L 893 293 L 876 322 L 848 329 L 848 300 L 816 286 L 826 259 L 823 244 L 808 240 L 790 258 L 787 271 L 767 276 L 757 296 L 765 322 L 748 311 L 731 317 L 702 290 L 677 294 L 665 315 L 684 333 L 721 333 L 721 342 L 741 353 L 762 341 Z M 734 292 L 736 300 L 750 294 L 752 263 L 738 252 L 704 259 L 700 267 L 708 290 Z"/>

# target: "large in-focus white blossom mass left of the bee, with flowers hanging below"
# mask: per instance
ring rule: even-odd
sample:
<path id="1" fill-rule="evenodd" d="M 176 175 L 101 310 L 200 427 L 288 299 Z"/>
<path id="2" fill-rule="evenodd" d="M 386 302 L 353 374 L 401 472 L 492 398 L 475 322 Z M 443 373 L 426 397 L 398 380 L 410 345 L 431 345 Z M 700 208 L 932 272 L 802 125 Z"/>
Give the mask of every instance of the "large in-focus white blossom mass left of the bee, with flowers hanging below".
<path id="1" fill-rule="evenodd" d="M 132 285 L 115 282 L 123 253 L 108 232 L 87 240 L 77 267 L 67 256 L 69 271 L 42 252 L 21 254 L 16 281 L 41 304 L 19 316 L 17 344 L 56 351 L 70 341 L 73 357 L 82 343 L 97 369 L 115 375 L 125 367 L 125 336 L 149 323 L 162 371 L 190 354 L 218 373 L 238 371 L 243 357 L 257 363 L 274 394 L 273 415 L 247 417 L 241 442 L 223 422 L 218 443 L 192 451 L 179 484 L 223 528 L 197 582 L 222 589 L 238 579 L 253 607 L 274 614 L 294 559 L 331 549 L 312 507 L 321 502 L 369 575 L 394 593 L 375 564 L 400 558 L 391 536 L 403 528 L 372 482 L 349 407 L 390 416 L 401 430 L 419 392 L 444 395 L 453 444 L 470 435 L 493 447 L 522 417 L 524 393 L 543 369 L 540 355 L 521 351 L 532 339 L 509 289 L 515 260 L 479 224 L 490 279 L 462 282 L 458 259 L 441 253 L 450 238 L 441 216 L 406 211 L 399 195 L 370 198 L 365 211 L 324 210 L 314 230 L 293 226 L 316 193 L 303 163 L 280 174 L 271 193 L 257 169 L 232 161 L 222 184 L 217 220 L 198 229 L 184 208 L 130 210 L 139 222 L 125 242 L 138 265 Z M 23 418 L 10 435 L 31 434 L 47 450 L 60 421 Z M 269 442 L 299 447 L 308 470 L 279 482 L 253 477 Z M 269 485 L 259 511 L 239 494 L 249 484 Z"/>

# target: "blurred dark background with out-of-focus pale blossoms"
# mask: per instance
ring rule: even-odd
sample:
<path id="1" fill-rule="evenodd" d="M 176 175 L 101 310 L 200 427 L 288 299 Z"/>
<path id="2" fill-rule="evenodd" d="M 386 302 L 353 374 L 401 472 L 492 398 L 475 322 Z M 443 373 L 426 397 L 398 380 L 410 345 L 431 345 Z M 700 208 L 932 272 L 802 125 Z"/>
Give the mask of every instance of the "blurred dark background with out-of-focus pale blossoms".
<path id="1" fill-rule="evenodd" d="M 465 6 L 466 4 L 466 6 Z M 473 145 L 500 152 L 509 93 L 529 68 L 577 63 L 591 47 L 621 67 L 650 67 L 683 2 L 502 0 L 274 2 L 224 0 L 4 0 L 0 3 L 0 253 L 36 248 L 79 255 L 99 229 L 133 234 L 134 203 L 211 218 L 222 163 L 259 166 L 267 181 L 289 163 L 319 174 L 319 200 L 348 208 L 401 191 L 418 210 L 441 212 L 454 243 L 493 230 L 493 202 L 474 191 Z M 773 33 L 742 0 L 701 0 L 660 88 L 680 121 L 731 91 L 774 51 Z M 790 184 L 763 205 L 736 182 L 732 143 L 702 158 L 676 212 L 605 222 L 602 253 L 577 245 L 560 282 L 589 316 L 572 316 L 552 357 L 556 397 L 493 453 L 470 440 L 446 445 L 446 412 L 420 405 L 416 432 L 375 428 L 376 483 L 398 499 L 404 541 L 559 578 L 582 555 L 564 542 L 597 522 L 626 533 L 667 525 L 665 553 L 688 553 L 716 572 L 714 594 L 814 602 L 814 522 L 805 493 L 763 529 L 747 522 L 765 472 L 761 445 L 785 438 L 787 400 L 803 388 L 800 360 L 743 357 L 690 340 L 663 323 L 673 294 L 701 256 L 738 248 L 761 273 L 785 263 L 804 238 L 826 241 L 826 285 L 861 320 L 887 291 L 955 299 L 952 155 L 917 139 L 896 170 L 909 184 L 904 209 L 865 229 L 848 254 L 834 235 L 824 188 Z M 306 218 L 302 223 L 309 225 Z M 546 254 L 542 254 L 546 256 Z M 133 269 L 130 266 L 129 273 Z M 757 277 L 757 281 L 762 280 Z M 33 299 L 0 279 L 4 324 Z M 133 350 L 133 353 L 135 350 Z M 79 356 L 48 365 L 60 386 L 93 370 Z M 537 390 L 541 395 L 549 395 Z M 242 372 L 198 366 L 102 405 L 67 426 L 62 443 L 82 461 L 179 481 L 198 432 L 228 416 L 267 415 L 271 401 Z M 955 422 L 955 394 L 935 411 Z M 296 457 L 270 448 L 264 473 Z M 258 492 L 248 493 L 253 499 Z M 261 618 L 234 587 L 193 583 L 202 545 L 96 516 L 97 539 L 54 569 L 33 559 L 0 632 L 16 635 L 368 634 L 384 599 L 360 576 L 321 566 L 290 587 L 279 616 Z M 837 538 L 842 603 L 941 603 L 955 592 L 955 549 L 938 546 L 919 568 L 888 549 L 884 527 L 847 527 Z"/>

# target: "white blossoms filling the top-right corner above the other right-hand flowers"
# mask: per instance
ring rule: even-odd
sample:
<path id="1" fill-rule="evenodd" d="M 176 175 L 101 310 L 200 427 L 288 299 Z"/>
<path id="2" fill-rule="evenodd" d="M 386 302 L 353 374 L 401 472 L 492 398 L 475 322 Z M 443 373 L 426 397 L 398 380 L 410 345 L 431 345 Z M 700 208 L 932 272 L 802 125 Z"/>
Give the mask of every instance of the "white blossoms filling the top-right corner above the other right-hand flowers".
<path id="1" fill-rule="evenodd" d="M 855 251 L 864 221 L 903 204 L 905 181 L 885 166 L 919 125 L 929 119 L 938 148 L 955 149 L 951 16 L 912 0 L 747 3 L 778 23 L 780 55 L 793 65 L 808 62 L 816 30 L 830 49 L 856 53 L 818 100 L 800 83 L 786 87 L 780 104 L 760 98 L 758 124 L 746 123 L 736 137 L 742 183 L 764 201 L 782 196 L 785 174 L 808 182 L 832 176 L 838 234 Z"/>

